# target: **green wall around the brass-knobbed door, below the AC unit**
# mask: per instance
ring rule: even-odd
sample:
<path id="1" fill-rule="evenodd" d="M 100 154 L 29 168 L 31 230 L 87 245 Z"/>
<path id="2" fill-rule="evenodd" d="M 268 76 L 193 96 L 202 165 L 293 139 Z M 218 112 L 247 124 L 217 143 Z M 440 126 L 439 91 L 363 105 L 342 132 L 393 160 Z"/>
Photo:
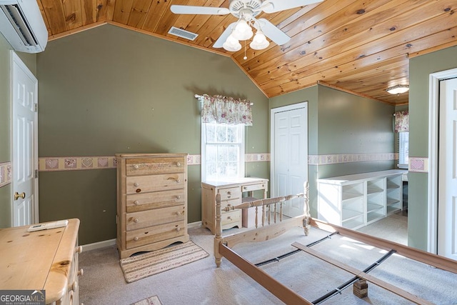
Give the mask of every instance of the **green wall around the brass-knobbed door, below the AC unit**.
<path id="1" fill-rule="evenodd" d="M 36 54 L 17 53 L 36 75 Z M 11 46 L 0 34 L 0 163 L 11 162 Z M 11 184 L 0 187 L 0 228 L 11 226 Z"/>

